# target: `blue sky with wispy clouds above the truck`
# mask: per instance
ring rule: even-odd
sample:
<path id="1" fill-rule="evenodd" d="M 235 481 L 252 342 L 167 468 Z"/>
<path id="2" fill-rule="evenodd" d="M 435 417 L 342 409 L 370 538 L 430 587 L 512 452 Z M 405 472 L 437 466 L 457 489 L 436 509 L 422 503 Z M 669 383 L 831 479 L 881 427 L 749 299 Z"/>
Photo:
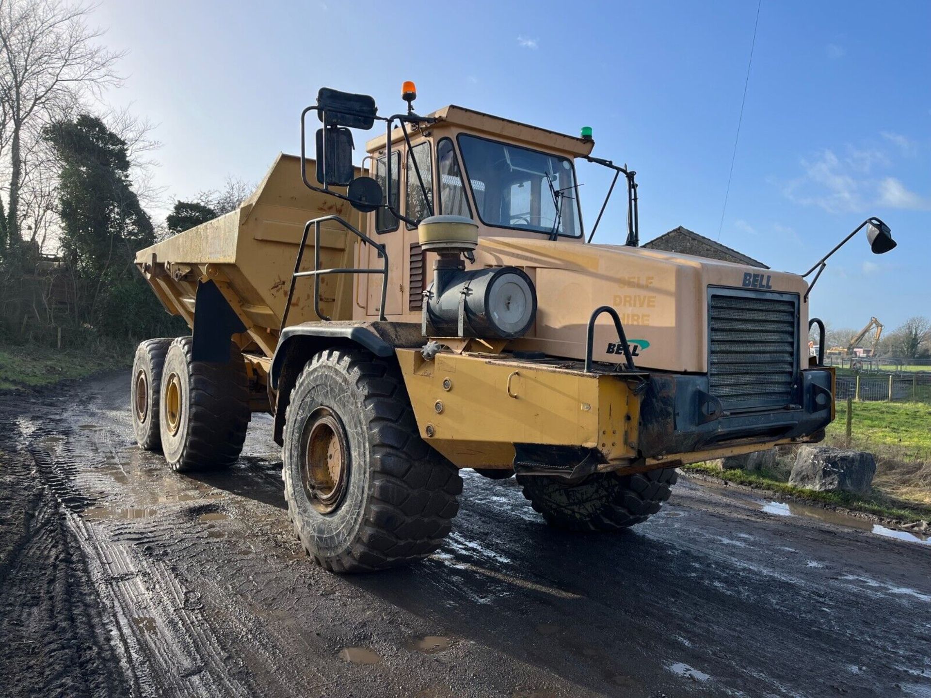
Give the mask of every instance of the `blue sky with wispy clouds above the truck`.
<path id="1" fill-rule="evenodd" d="M 104 0 L 104 40 L 128 50 L 126 85 L 106 99 L 158 124 L 156 180 L 184 198 L 297 152 L 318 87 L 369 93 L 387 113 L 412 79 L 421 113 L 457 103 L 591 126 L 595 154 L 638 172 L 642 240 L 677 225 L 718 237 L 755 1 L 390 6 Z M 854 240 L 818 281 L 814 313 L 835 327 L 931 315 L 929 29 L 931 3 L 762 1 L 720 239 L 803 271 L 883 218 L 897 249 L 875 257 Z M 591 166 L 579 181 L 590 225 L 608 181 Z M 623 242 L 623 203 L 600 242 Z"/>

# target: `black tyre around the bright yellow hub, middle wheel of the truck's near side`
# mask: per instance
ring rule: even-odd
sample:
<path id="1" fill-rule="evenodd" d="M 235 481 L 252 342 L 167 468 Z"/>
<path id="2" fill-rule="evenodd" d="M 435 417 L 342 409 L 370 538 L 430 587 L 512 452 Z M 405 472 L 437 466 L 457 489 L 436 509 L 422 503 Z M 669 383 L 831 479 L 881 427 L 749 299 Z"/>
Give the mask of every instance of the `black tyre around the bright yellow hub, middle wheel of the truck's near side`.
<path id="1" fill-rule="evenodd" d="M 246 365 L 235 347 L 225 364 L 194 361 L 190 337 L 171 342 L 162 369 L 159 427 L 162 451 L 172 470 L 215 470 L 239 458 L 251 417 Z M 177 377 L 176 430 L 167 395 Z"/>

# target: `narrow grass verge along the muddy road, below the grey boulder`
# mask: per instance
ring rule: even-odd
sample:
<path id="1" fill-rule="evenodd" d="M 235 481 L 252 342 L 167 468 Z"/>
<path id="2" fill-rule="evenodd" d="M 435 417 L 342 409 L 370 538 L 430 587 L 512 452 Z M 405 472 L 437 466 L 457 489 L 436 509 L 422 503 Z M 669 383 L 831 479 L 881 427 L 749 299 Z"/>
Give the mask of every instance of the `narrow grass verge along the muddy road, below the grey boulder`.
<path id="1" fill-rule="evenodd" d="M 852 511 L 861 511 L 876 517 L 894 518 L 899 521 L 913 523 L 916 521 L 931 520 L 931 506 L 921 503 L 911 503 L 899 500 L 884 494 L 882 491 L 874 492 L 869 497 L 861 497 L 850 492 L 818 492 L 793 487 L 779 479 L 772 473 L 748 473 L 744 470 L 722 470 L 717 465 L 709 463 L 693 463 L 683 465 L 682 470 L 687 473 L 697 473 L 706 477 L 734 482 L 738 485 L 777 492 L 787 497 L 805 502 L 816 502 L 840 506 Z"/>

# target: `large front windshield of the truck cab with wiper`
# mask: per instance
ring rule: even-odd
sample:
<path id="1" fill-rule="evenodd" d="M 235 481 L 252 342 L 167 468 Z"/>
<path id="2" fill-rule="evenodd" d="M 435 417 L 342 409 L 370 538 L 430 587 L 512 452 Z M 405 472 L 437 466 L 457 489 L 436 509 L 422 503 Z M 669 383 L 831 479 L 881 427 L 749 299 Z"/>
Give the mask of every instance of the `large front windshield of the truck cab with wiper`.
<path id="1" fill-rule="evenodd" d="M 582 235 L 570 159 L 466 134 L 458 140 L 483 223 L 554 239 Z"/>

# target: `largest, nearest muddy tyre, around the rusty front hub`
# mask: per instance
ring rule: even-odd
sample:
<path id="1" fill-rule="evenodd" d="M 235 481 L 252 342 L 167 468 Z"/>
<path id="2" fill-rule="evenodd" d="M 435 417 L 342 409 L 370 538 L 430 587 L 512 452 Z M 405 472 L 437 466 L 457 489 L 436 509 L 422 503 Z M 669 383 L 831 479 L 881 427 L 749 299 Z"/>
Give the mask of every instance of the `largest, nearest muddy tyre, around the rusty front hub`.
<path id="1" fill-rule="evenodd" d="M 302 479 L 305 431 L 321 409 L 343 425 L 342 501 L 315 508 Z M 320 352 L 304 367 L 285 420 L 285 498 L 317 564 L 334 572 L 382 570 L 428 556 L 450 532 L 459 471 L 420 437 L 397 365 L 361 349 Z"/>

